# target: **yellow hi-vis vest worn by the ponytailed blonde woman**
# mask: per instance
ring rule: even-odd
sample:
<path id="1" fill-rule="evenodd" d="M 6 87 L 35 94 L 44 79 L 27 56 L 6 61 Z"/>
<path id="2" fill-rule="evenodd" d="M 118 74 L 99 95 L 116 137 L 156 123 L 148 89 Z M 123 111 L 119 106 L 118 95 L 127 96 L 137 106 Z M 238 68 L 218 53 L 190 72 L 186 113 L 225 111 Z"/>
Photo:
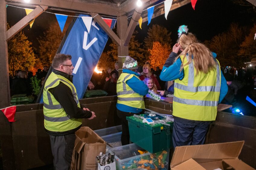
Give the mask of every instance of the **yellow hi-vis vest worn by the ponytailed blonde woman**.
<path id="1" fill-rule="evenodd" d="M 180 56 L 185 65 L 188 56 Z M 221 73 L 219 61 L 216 68 L 205 74 L 196 75 L 194 61 L 184 66 L 184 78 L 174 81 L 173 116 L 195 120 L 214 121 L 219 102 Z"/>

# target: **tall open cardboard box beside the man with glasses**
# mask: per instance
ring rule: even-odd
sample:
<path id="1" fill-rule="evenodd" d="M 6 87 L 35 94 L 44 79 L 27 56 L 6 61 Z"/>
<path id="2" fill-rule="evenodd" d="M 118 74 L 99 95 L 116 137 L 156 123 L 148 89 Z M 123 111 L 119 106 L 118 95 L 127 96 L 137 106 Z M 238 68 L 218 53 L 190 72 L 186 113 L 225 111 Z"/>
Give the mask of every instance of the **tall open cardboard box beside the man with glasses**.
<path id="1" fill-rule="evenodd" d="M 81 127 L 76 131 L 71 169 L 96 170 L 96 156 L 105 151 L 106 142 L 89 127 Z"/>

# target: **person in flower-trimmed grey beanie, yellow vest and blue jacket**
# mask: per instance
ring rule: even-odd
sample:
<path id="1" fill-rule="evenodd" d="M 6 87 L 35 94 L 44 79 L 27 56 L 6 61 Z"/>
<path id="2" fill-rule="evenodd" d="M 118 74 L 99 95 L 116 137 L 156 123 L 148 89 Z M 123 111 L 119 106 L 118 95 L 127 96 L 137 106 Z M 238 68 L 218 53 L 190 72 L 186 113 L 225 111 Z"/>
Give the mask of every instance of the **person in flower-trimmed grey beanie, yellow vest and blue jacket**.
<path id="1" fill-rule="evenodd" d="M 139 74 L 135 72 L 138 63 L 130 56 L 126 56 L 123 64 L 122 74 L 117 80 L 117 115 L 122 121 L 122 145 L 130 143 L 130 134 L 126 116 L 140 114 L 145 109 L 144 99 L 148 93 L 148 87 L 140 80 Z"/>

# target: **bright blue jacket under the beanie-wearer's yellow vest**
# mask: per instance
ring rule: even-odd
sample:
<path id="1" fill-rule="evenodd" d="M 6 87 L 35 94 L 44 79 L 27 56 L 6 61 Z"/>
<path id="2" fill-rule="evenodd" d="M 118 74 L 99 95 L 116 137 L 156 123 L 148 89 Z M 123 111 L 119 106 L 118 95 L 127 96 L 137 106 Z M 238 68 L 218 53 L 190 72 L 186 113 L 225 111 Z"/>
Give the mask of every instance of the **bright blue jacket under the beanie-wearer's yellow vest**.
<path id="1" fill-rule="evenodd" d="M 123 69 L 123 73 L 134 74 L 138 77 L 140 76 L 138 73 L 136 73 L 134 71 L 131 71 L 131 70 L 128 70 L 128 69 Z M 126 84 L 129 87 L 131 87 L 131 89 L 134 92 L 136 92 L 136 93 L 138 93 L 142 96 L 145 96 L 148 93 L 147 85 L 143 81 L 139 80 L 136 77 L 132 77 L 131 79 L 127 80 Z M 123 105 L 123 104 L 119 104 L 119 103 L 116 104 L 116 108 L 120 111 L 131 112 L 131 113 L 140 113 L 140 112 L 143 111 L 143 109 L 138 109 L 138 108 L 135 108 L 135 107 L 131 107 L 131 106 Z"/>

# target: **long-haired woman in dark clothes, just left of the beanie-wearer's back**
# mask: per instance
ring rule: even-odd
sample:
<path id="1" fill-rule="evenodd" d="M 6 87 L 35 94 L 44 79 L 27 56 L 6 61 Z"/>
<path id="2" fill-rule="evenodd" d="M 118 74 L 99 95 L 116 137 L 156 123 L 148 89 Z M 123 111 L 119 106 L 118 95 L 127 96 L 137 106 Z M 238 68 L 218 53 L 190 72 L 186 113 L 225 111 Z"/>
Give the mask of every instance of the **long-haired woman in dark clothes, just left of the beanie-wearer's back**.
<path id="1" fill-rule="evenodd" d="M 103 90 L 106 91 L 108 96 L 116 95 L 116 73 L 115 71 L 110 72 L 110 79 L 106 81 Z"/>

